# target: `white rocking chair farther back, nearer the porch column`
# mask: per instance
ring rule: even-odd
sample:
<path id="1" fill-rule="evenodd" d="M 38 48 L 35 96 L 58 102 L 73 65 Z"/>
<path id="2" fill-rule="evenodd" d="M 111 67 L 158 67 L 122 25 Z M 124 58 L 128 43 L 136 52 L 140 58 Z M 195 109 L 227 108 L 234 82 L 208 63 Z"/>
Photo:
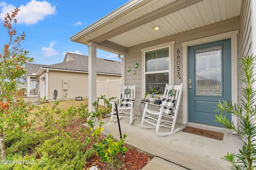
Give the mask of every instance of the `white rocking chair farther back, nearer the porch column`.
<path id="1" fill-rule="evenodd" d="M 118 117 L 128 117 L 130 118 L 130 123 L 133 122 L 134 117 L 134 101 L 135 101 L 135 84 L 134 86 L 121 86 L 121 93 L 118 102 Z M 111 122 L 116 122 L 114 117 L 116 116 L 115 111 L 115 103 L 116 101 L 112 100 L 112 111 L 111 111 Z"/>

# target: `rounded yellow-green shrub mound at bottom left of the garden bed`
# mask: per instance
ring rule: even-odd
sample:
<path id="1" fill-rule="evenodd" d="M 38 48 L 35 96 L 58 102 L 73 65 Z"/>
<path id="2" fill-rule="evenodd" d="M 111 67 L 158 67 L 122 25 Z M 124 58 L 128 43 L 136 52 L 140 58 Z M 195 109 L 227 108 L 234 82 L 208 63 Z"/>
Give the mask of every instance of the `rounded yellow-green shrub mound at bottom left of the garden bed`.
<path id="1" fill-rule="evenodd" d="M 40 160 L 49 169 L 82 169 L 86 164 L 84 144 L 69 135 L 57 136 L 38 146 Z"/>

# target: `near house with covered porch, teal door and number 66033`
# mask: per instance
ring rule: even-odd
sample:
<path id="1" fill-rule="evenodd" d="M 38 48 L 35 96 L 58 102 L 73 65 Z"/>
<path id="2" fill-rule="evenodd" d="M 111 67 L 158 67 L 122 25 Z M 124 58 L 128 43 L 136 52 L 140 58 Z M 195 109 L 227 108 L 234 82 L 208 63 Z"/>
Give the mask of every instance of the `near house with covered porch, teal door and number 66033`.
<path id="1" fill-rule="evenodd" d="M 150 88 L 183 82 L 177 122 L 214 129 L 216 102 L 240 103 L 237 59 L 256 55 L 255 9 L 255 0 L 131 0 L 70 39 L 88 46 L 92 65 L 96 48 L 124 56 L 123 84 L 136 84 L 136 115 Z M 238 117 L 228 118 L 238 125 Z"/>

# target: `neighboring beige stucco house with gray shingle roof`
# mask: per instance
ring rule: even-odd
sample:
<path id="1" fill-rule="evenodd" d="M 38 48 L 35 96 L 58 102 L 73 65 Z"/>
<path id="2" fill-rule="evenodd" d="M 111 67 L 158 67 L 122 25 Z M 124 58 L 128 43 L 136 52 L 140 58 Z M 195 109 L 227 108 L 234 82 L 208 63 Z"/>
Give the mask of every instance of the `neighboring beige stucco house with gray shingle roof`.
<path id="1" fill-rule="evenodd" d="M 27 63 L 25 66 L 27 96 L 36 89 L 36 95 L 46 100 L 54 100 L 54 90 L 58 99 L 88 98 L 88 56 L 66 53 L 62 63 L 41 65 Z M 122 63 L 97 58 L 97 80 L 116 80 L 122 77 Z"/>

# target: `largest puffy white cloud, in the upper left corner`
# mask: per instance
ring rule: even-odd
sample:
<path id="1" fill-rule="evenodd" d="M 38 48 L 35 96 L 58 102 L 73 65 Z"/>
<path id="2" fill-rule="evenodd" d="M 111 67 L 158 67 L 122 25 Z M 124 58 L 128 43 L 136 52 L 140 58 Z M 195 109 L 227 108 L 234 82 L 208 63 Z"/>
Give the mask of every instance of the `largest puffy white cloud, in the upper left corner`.
<path id="1" fill-rule="evenodd" d="M 11 14 L 11 11 L 16 8 L 16 6 L 13 6 L 12 4 L 6 4 L 4 1 L 0 2 L 0 7 L 2 7 L 2 12 L 0 13 L 0 18 L 2 20 L 4 20 L 5 14 Z M 17 23 L 25 23 L 27 25 L 38 23 L 38 21 L 44 20 L 45 16 L 55 14 L 55 8 L 56 6 L 52 6 L 52 4 L 45 0 L 42 2 L 31 0 L 25 6 L 20 6 L 20 11 L 16 16 L 18 21 Z"/>

